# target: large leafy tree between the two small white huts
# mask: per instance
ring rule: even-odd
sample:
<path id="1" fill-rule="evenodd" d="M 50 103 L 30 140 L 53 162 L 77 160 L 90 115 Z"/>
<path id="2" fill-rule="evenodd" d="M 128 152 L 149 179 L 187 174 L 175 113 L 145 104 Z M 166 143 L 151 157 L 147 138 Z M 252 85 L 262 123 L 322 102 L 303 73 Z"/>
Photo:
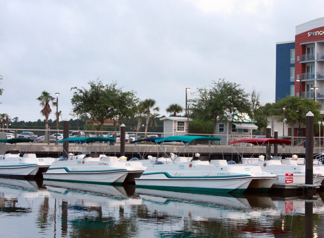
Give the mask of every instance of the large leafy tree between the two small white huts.
<path id="1" fill-rule="evenodd" d="M 251 114 L 249 94 L 245 93 L 240 85 L 220 79 L 213 81 L 210 89 L 198 88 L 198 97 L 191 100 L 190 111 L 203 121 L 212 121 L 214 134 L 218 122 L 228 122 L 235 112 Z"/>

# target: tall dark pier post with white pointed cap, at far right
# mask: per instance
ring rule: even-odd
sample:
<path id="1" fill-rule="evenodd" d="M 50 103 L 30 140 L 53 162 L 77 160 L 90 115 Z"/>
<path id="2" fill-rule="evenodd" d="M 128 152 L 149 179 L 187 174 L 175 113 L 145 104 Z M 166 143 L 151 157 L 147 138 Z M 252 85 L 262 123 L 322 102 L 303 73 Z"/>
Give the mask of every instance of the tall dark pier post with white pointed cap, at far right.
<path id="1" fill-rule="evenodd" d="M 305 184 L 313 184 L 313 141 L 314 141 L 314 114 L 309 111 L 306 114 L 306 153 L 305 153 Z M 306 187 L 307 197 L 313 194 L 311 186 Z"/>

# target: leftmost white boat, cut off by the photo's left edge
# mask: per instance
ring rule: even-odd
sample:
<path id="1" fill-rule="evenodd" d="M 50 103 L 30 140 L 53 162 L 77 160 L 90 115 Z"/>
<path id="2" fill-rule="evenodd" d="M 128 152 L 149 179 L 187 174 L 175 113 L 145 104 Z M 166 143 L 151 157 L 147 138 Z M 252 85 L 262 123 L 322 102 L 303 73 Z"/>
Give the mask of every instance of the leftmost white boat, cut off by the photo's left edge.
<path id="1" fill-rule="evenodd" d="M 19 142 L 31 142 L 29 139 L 0 139 L 0 142 L 16 144 Z M 30 162 L 19 153 L 5 153 L 0 155 L 0 176 L 14 177 L 34 177 L 38 172 L 39 166 L 35 162 Z"/>

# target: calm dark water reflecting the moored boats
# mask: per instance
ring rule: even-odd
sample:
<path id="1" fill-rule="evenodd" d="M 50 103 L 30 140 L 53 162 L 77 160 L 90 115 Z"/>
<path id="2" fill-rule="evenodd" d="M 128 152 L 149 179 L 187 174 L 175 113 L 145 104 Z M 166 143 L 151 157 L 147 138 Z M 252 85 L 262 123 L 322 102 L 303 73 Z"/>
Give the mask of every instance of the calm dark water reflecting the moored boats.
<path id="1" fill-rule="evenodd" d="M 324 237 L 323 201 L 322 192 L 305 200 L 1 178 L 0 230 L 2 237 Z"/>

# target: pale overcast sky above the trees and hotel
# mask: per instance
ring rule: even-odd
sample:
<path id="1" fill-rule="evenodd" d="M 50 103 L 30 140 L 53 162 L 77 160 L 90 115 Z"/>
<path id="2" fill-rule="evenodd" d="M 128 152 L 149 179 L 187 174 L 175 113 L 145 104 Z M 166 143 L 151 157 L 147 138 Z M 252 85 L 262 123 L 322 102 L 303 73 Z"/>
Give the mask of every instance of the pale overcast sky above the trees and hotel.
<path id="1" fill-rule="evenodd" d="M 160 114 L 225 78 L 275 100 L 275 44 L 324 16 L 322 1 L 0 0 L 0 113 L 44 120 L 36 98 L 71 118 L 71 87 L 116 81 Z M 56 107 L 52 108 L 56 111 Z M 50 118 L 55 119 L 54 113 Z"/>

